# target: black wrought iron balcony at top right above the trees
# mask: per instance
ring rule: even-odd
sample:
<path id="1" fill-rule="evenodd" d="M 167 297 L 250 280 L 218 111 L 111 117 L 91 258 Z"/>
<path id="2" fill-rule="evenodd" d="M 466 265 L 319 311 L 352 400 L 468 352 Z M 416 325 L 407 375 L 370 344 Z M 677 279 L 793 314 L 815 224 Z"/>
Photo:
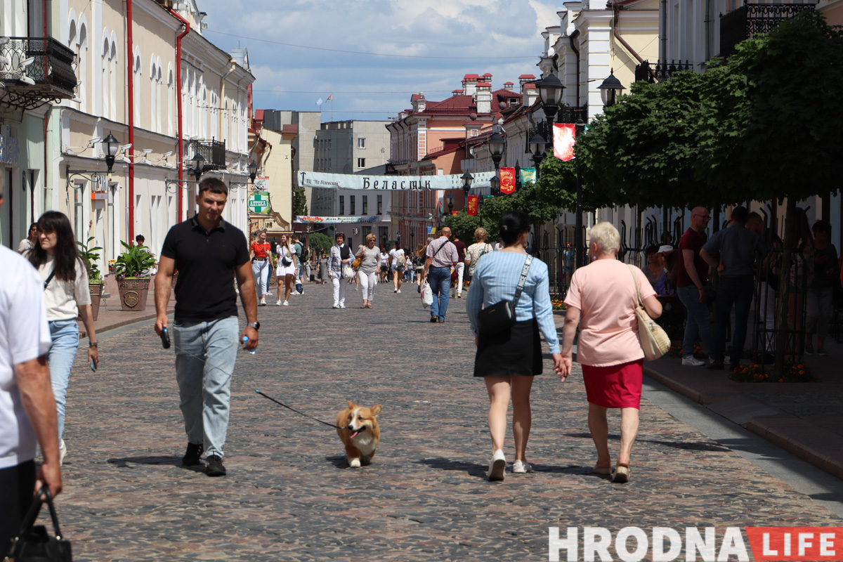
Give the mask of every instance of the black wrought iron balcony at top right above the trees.
<path id="1" fill-rule="evenodd" d="M 748 4 L 720 15 L 720 56 L 735 52 L 735 45 L 755 35 L 770 33 L 785 19 L 791 19 L 814 4 Z"/>

